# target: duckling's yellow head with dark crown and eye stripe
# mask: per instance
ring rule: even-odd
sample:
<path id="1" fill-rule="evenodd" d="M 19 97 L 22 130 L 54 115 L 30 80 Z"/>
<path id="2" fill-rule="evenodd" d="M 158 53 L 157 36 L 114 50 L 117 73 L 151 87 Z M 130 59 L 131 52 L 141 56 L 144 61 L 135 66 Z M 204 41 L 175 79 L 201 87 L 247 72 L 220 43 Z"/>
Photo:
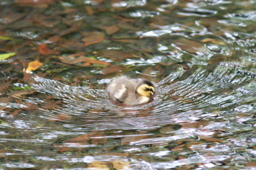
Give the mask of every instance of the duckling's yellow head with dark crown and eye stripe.
<path id="1" fill-rule="evenodd" d="M 141 80 L 137 84 L 136 92 L 139 95 L 150 97 L 155 94 L 154 84 L 148 80 Z"/>

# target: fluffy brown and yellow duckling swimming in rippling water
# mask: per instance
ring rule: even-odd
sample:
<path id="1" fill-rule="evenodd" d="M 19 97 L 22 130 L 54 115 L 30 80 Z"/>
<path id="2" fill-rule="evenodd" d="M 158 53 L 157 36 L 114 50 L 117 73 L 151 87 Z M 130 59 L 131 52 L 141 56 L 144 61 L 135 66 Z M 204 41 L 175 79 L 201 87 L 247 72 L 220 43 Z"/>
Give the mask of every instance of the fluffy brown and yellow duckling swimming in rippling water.
<path id="1" fill-rule="evenodd" d="M 139 105 L 150 101 L 150 97 L 155 94 L 155 87 L 148 80 L 135 81 L 127 76 L 120 76 L 108 85 L 106 91 L 114 101 Z"/>

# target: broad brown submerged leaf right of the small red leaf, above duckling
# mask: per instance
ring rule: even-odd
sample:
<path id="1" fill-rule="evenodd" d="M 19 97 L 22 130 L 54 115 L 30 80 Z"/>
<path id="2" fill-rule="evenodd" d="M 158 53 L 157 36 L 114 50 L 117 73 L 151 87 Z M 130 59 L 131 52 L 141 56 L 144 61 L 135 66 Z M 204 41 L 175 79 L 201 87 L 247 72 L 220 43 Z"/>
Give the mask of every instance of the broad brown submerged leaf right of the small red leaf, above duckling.
<path id="1" fill-rule="evenodd" d="M 82 33 L 82 35 L 84 35 L 84 38 L 82 38 L 84 46 L 89 46 L 105 40 L 104 33 L 102 32 L 84 32 Z"/>

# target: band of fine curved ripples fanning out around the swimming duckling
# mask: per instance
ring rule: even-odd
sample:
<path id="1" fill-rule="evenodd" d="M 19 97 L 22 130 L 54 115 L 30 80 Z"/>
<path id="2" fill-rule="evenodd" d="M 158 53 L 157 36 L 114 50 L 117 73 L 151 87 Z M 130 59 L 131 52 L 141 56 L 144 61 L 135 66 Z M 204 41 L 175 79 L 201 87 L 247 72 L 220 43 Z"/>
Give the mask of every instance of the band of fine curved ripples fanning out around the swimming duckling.
<path id="1" fill-rule="evenodd" d="M 32 88 L 61 101 L 59 107 L 52 109 L 39 107 L 39 117 L 66 122 L 64 126 L 71 130 L 154 129 L 185 124 L 218 116 L 225 109 L 232 114 L 230 107 L 254 100 L 254 76 L 241 75 L 236 62 L 221 62 L 214 69 L 206 66 L 192 69 L 193 72 L 174 73 L 155 83 L 158 95 L 154 101 L 136 107 L 112 104 L 104 88 L 73 87 L 38 76 Z M 24 99 L 24 102 L 42 104 L 39 99 Z"/>

